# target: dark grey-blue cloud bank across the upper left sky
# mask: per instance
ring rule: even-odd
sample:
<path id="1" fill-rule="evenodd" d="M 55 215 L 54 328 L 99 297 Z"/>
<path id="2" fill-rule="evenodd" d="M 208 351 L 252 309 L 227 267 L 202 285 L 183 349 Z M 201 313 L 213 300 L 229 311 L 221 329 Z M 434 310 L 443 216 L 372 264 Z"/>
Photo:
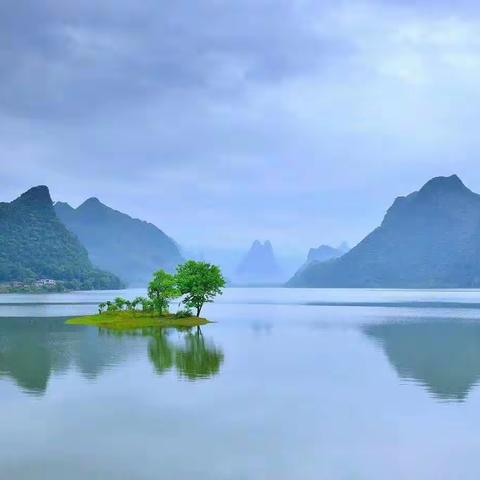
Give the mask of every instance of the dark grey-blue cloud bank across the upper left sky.
<path id="1" fill-rule="evenodd" d="M 23 2 L 0 7 L 2 107 L 60 121 L 150 96 L 236 94 L 316 68 L 337 44 L 304 2 Z M 322 42 L 326 42 L 325 44 Z"/>

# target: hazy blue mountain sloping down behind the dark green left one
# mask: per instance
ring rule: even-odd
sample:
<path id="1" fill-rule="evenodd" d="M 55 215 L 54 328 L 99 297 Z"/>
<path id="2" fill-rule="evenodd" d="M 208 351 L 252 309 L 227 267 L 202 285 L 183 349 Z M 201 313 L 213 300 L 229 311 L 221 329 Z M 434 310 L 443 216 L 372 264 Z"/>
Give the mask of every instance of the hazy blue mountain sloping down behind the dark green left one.
<path id="1" fill-rule="evenodd" d="M 183 261 L 177 244 L 151 223 L 132 218 L 89 198 L 78 208 L 57 202 L 55 210 L 86 246 L 92 262 L 133 285 L 145 285 L 161 268 Z"/>

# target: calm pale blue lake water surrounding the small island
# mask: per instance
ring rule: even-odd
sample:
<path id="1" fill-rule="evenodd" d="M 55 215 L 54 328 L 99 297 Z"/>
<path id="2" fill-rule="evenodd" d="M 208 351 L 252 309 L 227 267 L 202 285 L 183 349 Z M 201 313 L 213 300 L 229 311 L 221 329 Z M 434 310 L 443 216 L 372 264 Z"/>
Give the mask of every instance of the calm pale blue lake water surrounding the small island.
<path id="1" fill-rule="evenodd" d="M 64 324 L 117 294 L 0 296 L 0 478 L 479 478 L 480 291 L 228 289 L 201 334 Z"/>

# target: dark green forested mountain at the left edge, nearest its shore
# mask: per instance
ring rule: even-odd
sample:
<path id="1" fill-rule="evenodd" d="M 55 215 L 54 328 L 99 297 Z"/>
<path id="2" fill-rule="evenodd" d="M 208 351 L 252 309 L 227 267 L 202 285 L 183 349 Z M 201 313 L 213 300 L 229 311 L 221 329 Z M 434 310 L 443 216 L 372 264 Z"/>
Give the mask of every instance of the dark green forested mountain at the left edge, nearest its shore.
<path id="1" fill-rule="evenodd" d="M 78 239 L 60 222 L 46 186 L 0 203 L 0 282 L 49 278 L 72 288 L 119 288 L 114 275 L 93 267 Z"/>

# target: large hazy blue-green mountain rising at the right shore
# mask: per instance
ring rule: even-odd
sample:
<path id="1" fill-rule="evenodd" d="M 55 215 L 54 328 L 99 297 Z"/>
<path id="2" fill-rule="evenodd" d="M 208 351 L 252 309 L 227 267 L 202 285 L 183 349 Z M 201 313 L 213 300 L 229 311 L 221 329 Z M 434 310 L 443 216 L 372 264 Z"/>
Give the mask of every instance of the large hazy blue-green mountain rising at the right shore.
<path id="1" fill-rule="evenodd" d="M 293 287 L 480 286 L 480 195 L 456 176 L 399 197 L 377 229 L 342 257 L 297 273 Z"/>

